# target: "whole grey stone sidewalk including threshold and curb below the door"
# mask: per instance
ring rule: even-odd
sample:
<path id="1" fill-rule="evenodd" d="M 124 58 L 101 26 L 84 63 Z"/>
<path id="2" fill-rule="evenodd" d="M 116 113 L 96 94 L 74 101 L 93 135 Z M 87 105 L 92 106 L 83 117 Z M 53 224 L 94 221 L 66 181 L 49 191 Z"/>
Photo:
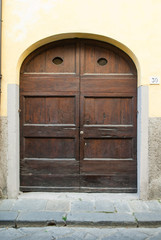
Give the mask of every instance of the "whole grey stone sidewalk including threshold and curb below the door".
<path id="1" fill-rule="evenodd" d="M 135 194 L 26 193 L 0 201 L 0 227 L 159 227 L 161 202 Z"/>

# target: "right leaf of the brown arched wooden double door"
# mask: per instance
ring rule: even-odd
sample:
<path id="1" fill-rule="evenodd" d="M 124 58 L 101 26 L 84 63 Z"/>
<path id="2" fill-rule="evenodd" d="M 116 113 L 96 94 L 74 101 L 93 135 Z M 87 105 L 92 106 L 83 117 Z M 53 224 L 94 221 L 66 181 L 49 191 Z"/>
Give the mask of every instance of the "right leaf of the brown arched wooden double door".
<path id="1" fill-rule="evenodd" d="M 80 189 L 136 192 L 136 70 L 115 47 L 81 47 Z"/>

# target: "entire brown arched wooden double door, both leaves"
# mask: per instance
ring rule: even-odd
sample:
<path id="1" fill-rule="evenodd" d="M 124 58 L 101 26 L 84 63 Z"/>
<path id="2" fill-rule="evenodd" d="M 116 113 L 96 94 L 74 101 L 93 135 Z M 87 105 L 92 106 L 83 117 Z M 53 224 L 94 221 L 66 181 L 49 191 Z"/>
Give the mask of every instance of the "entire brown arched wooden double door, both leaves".
<path id="1" fill-rule="evenodd" d="M 24 61 L 21 190 L 136 192 L 132 60 L 103 42 L 69 39 Z"/>

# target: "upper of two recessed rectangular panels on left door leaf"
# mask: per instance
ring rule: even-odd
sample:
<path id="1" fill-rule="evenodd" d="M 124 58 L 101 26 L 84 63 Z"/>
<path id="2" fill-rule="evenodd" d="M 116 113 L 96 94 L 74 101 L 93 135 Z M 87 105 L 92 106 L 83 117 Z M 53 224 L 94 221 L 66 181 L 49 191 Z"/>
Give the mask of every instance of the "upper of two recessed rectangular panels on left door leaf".
<path id="1" fill-rule="evenodd" d="M 25 97 L 25 124 L 73 124 L 76 101 L 74 96 Z"/>

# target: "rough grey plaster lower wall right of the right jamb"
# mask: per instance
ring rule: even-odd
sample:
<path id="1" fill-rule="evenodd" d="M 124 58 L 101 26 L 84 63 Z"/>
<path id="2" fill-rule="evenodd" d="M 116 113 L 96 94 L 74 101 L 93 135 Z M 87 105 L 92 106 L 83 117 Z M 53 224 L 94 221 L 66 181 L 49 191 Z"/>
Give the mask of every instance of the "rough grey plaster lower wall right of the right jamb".
<path id="1" fill-rule="evenodd" d="M 149 119 L 149 199 L 161 198 L 161 118 Z"/>

